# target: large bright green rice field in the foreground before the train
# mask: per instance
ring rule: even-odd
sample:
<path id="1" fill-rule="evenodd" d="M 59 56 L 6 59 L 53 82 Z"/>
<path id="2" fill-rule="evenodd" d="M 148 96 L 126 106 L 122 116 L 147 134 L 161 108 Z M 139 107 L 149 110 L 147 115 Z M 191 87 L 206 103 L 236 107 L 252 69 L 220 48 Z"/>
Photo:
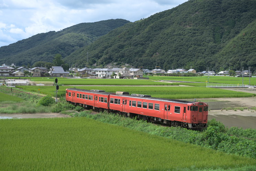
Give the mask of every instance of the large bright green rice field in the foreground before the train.
<path id="1" fill-rule="evenodd" d="M 0 170 L 225 170 L 256 165 L 255 159 L 84 117 L 0 119 L 0 130 Z"/>

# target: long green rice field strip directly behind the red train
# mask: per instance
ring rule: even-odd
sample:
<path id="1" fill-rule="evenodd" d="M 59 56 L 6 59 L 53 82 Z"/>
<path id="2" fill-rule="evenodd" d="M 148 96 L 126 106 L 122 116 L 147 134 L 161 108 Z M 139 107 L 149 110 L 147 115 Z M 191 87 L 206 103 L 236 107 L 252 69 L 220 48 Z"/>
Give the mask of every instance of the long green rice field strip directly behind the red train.
<path id="1" fill-rule="evenodd" d="M 55 96 L 55 86 L 16 86 L 17 88 L 24 89 L 26 91 L 38 92 Z M 67 88 L 74 88 L 71 86 L 59 86 L 58 96 L 65 96 L 65 90 Z M 256 94 L 214 89 L 206 87 L 124 87 L 124 86 L 77 86 L 78 89 L 98 89 L 105 90 L 106 92 L 126 91 L 130 94 L 147 94 L 152 97 L 159 98 L 173 98 L 173 99 L 184 99 L 184 98 L 217 98 L 217 97 L 252 97 Z"/>

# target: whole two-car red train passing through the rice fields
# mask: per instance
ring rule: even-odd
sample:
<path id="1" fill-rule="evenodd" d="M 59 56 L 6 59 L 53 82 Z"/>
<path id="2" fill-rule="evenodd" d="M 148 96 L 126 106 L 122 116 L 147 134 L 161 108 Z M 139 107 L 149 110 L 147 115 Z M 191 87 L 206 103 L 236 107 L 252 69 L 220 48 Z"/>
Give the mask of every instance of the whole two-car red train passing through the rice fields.
<path id="1" fill-rule="evenodd" d="M 208 104 L 156 98 L 128 92 L 66 89 L 66 101 L 87 109 L 108 110 L 124 116 L 200 130 L 207 126 Z"/>

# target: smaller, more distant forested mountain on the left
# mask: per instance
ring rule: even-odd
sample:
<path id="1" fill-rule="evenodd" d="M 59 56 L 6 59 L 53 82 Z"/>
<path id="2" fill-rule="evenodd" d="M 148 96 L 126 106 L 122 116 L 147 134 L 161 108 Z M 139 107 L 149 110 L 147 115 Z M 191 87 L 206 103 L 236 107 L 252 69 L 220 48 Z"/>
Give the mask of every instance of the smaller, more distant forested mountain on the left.
<path id="1" fill-rule="evenodd" d="M 52 62 L 55 54 L 63 57 L 84 47 L 109 31 L 129 23 L 124 19 L 109 19 L 94 23 L 80 23 L 61 31 L 49 31 L 0 48 L 0 63 L 16 65 L 37 61 Z"/>

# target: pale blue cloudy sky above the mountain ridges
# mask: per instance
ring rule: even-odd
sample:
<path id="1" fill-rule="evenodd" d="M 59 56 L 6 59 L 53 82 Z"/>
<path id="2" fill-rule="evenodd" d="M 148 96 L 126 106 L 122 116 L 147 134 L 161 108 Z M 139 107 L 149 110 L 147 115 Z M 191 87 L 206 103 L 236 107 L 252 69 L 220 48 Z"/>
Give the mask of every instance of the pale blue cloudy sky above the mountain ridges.
<path id="1" fill-rule="evenodd" d="M 107 19 L 135 22 L 188 0 L 0 0 L 0 47 Z"/>

